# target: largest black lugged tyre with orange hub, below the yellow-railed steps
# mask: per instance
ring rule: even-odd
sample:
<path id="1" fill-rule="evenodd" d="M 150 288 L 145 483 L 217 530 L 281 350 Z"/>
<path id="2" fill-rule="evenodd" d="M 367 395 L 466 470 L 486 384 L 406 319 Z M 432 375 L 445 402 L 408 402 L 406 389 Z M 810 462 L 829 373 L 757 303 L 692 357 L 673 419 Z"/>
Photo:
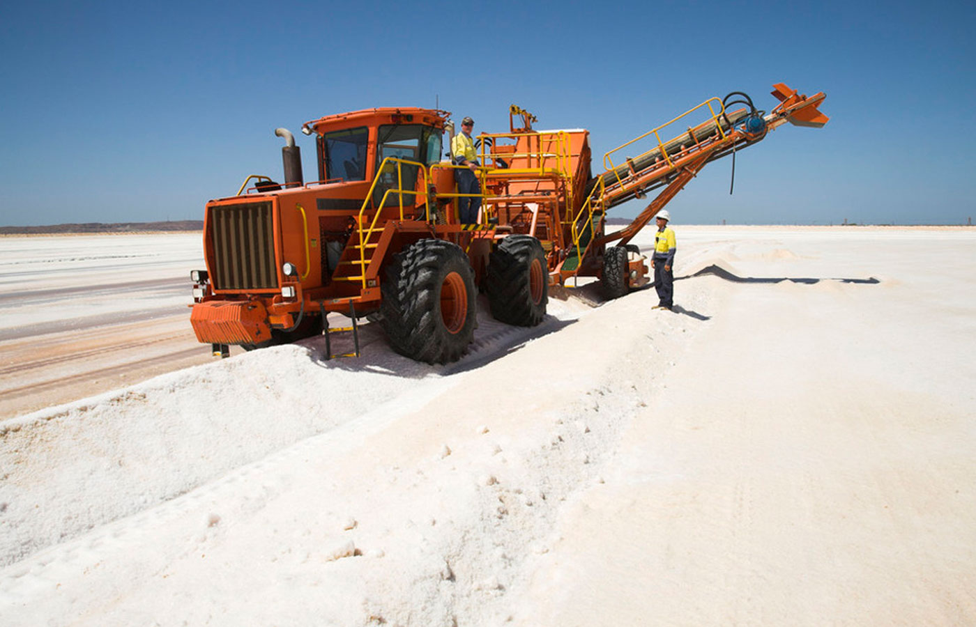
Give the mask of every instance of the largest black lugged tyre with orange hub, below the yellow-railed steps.
<path id="1" fill-rule="evenodd" d="M 382 285 L 382 324 L 393 350 L 428 364 L 461 358 L 474 337 L 474 271 L 444 240 L 420 240 L 393 255 Z"/>

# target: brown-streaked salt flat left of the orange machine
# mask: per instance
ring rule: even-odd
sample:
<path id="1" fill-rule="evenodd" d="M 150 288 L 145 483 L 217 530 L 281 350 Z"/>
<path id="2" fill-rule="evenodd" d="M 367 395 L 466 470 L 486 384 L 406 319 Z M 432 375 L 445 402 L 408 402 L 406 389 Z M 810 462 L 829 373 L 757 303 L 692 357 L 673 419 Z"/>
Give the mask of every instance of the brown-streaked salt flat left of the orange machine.
<path id="1" fill-rule="evenodd" d="M 187 324 L 201 251 L 200 233 L 0 238 L 0 419 L 210 361 Z"/>

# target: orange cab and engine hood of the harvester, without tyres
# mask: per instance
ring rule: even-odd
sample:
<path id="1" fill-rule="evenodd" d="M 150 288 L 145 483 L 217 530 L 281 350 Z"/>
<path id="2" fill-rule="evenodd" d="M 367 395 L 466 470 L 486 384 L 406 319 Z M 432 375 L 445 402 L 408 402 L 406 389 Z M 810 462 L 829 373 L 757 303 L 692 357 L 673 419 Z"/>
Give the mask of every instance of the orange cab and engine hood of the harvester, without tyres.
<path id="1" fill-rule="evenodd" d="M 384 235 L 384 250 L 377 256 L 386 255 L 393 240 L 410 239 L 411 235 L 401 237 L 393 222 L 415 221 L 427 205 L 426 180 L 418 176 L 423 168 L 394 164 L 391 172 L 379 174 L 378 169 L 388 156 L 425 166 L 439 161 L 445 114 L 423 108 L 376 108 L 308 122 L 306 128 L 317 139 L 319 180 L 259 180 L 236 196 L 207 203 L 203 248 L 211 280 L 193 306 L 197 339 L 260 345 L 267 339 L 267 328 L 290 330 L 306 313 L 311 317 L 323 310 L 346 312 L 350 300 L 361 313 L 375 310 L 381 266 L 368 281 L 362 269 L 378 253 Z M 389 166 L 386 163 L 387 170 Z M 403 175 L 413 179 L 405 187 L 400 184 Z M 266 177 L 249 177 L 245 185 L 251 178 Z M 409 188 L 410 193 L 386 193 L 392 188 Z M 359 242 L 351 240 L 364 226 L 374 227 L 370 241 L 353 248 Z M 409 232 L 409 224 L 403 230 Z M 286 264 L 294 273 L 285 273 Z M 290 291 L 283 293 L 283 288 Z M 227 303 L 235 303 L 240 312 L 232 324 Z M 264 313 L 264 326 L 254 324 L 258 312 Z"/>

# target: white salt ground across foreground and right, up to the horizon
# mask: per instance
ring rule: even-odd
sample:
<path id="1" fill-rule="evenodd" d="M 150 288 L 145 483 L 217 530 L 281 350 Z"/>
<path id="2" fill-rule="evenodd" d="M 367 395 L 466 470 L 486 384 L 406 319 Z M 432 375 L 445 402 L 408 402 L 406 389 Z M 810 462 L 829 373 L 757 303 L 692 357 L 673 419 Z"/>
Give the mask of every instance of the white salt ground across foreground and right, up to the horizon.
<path id="1" fill-rule="evenodd" d="M 674 312 L 0 422 L 0 624 L 976 621 L 976 232 L 675 230 Z"/>

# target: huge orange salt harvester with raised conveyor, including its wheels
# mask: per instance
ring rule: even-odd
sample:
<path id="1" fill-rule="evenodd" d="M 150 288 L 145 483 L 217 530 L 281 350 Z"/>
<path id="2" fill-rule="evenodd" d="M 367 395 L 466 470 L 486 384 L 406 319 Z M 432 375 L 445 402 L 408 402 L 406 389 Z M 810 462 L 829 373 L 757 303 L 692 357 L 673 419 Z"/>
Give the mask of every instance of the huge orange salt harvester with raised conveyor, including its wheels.
<path id="1" fill-rule="evenodd" d="M 305 182 L 301 153 L 285 129 L 283 182 L 248 176 L 234 196 L 206 205 L 206 270 L 191 273 L 190 322 L 215 354 L 379 320 L 398 353 L 428 363 L 461 357 L 476 326 L 475 296 L 491 315 L 538 325 L 549 288 L 597 277 L 608 297 L 648 282 L 630 239 L 706 164 L 752 145 L 778 126 L 821 127 L 824 94 L 774 86 L 768 114 L 742 93 L 710 98 L 603 155 L 591 172 L 590 134 L 538 131 L 531 113 L 509 107 L 507 133 L 476 137 L 481 201 L 462 223 L 455 172 L 443 160 L 454 137 L 450 113 L 374 108 L 306 122 L 317 180 Z M 738 108 L 735 108 L 736 105 Z M 634 157 L 624 156 L 636 152 Z M 656 191 L 622 229 L 607 211 Z M 330 328 L 329 314 L 351 327 Z"/>

